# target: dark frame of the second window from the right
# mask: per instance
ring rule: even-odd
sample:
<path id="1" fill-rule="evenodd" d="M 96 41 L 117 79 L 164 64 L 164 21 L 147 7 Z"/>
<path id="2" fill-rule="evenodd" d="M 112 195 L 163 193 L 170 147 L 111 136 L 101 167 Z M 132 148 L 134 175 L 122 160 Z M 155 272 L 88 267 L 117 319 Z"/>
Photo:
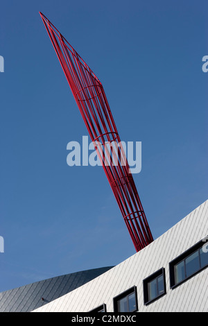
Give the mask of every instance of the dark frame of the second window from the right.
<path id="1" fill-rule="evenodd" d="M 153 298 L 150 300 L 149 298 L 149 283 L 152 282 L 153 280 L 157 279 L 158 277 L 163 276 L 163 281 L 164 281 L 164 292 L 157 295 L 157 297 Z M 158 281 L 157 281 L 158 282 Z M 155 302 L 159 298 L 162 298 L 164 295 L 166 295 L 166 273 L 165 273 L 165 268 L 159 268 L 158 271 L 155 273 L 149 275 L 143 280 L 143 294 L 144 294 L 144 304 L 147 306 L 148 304 Z"/>

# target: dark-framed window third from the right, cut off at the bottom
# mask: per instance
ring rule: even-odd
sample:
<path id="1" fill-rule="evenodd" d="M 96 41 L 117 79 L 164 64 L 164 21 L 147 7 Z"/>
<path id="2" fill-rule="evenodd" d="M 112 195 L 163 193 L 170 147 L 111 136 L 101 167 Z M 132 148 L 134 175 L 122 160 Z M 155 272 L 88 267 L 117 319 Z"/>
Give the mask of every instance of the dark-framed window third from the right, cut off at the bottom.
<path id="1" fill-rule="evenodd" d="M 114 312 L 137 311 L 137 287 L 133 286 L 114 298 Z"/>

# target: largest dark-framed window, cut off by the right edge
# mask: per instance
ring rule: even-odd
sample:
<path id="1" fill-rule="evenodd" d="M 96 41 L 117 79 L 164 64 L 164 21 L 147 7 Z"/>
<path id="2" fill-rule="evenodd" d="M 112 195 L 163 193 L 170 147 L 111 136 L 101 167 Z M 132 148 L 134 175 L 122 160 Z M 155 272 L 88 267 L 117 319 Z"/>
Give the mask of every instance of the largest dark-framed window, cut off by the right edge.
<path id="1" fill-rule="evenodd" d="M 205 241 L 199 241 L 169 264 L 171 289 L 189 280 L 190 277 L 208 266 L 208 252 L 203 246 Z"/>

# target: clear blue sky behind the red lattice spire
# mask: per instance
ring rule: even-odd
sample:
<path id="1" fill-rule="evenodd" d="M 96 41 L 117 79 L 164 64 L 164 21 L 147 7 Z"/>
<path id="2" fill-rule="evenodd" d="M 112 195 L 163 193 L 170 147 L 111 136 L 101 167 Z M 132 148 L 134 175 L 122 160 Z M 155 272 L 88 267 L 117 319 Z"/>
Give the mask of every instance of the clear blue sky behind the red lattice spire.
<path id="1" fill-rule="evenodd" d="M 135 254 L 102 167 L 67 165 L 87 129 L 39 11 L 103 83 L 156 239 L 207 200 L 207 1 L 3 1 L 0 291 Z M 174 246 L 174 243 L 173 243 Z"/>

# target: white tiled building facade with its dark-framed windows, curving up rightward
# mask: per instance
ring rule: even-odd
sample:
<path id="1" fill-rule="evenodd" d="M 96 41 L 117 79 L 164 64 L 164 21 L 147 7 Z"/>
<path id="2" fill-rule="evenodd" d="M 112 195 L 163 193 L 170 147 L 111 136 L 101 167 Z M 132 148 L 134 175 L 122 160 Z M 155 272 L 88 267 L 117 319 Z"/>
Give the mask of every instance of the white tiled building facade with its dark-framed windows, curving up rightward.
<path id="1" fill-rule="evenodd" d="M 146 248 L 33 312 L 207 312 L 208 200 Z"/>

